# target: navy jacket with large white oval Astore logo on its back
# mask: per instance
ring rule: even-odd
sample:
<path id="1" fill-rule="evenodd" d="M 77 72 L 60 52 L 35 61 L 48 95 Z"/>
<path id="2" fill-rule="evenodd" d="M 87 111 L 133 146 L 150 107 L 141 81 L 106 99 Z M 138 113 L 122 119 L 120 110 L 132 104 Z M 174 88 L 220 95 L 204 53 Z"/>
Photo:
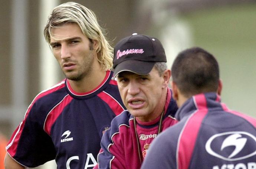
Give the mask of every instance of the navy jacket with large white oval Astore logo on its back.
<path id="1" fill-rule="evenodd" d="M 229 110 L 216 93 L 188 99 L 179 121 L 152 143 L 142 169 L 256 168 L 256 119 Z"/>

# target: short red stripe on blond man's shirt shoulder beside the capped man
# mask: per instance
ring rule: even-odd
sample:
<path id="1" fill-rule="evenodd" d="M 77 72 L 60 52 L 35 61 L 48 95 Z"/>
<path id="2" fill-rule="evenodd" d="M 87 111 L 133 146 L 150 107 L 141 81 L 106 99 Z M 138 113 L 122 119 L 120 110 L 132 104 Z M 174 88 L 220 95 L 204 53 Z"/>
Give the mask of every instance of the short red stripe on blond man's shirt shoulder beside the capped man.
<path id="1" fill-rule="evenodd" d="M 101 93 L 97 94 L 97 96 L 108 104 L 108 106 L 115 113 L 115 115 L 119 115 L 120 113 L 122 113 L 122 111 L 124 111 L 124 108 L 121 106 L 121 104 L 117 100 L 115 100 L 114 97 L 112 97 L 105 91 L 102 91 Z"/>

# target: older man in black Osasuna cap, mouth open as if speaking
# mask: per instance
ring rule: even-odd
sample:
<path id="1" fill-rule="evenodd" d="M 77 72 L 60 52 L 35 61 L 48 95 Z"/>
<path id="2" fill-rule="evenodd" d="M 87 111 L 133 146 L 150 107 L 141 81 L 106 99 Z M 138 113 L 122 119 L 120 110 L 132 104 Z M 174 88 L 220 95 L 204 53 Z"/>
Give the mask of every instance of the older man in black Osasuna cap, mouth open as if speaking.
<path id="1" fill-rule="evenodd" d="M 128 110 L 103 135 L 95 168 L 138 169 L 152 140 L 177 123 L 177 105 L 168 88 L 171 71 L 157 38 L 133 34 L 121 39 L 114 52 L 114 77 Z"/>

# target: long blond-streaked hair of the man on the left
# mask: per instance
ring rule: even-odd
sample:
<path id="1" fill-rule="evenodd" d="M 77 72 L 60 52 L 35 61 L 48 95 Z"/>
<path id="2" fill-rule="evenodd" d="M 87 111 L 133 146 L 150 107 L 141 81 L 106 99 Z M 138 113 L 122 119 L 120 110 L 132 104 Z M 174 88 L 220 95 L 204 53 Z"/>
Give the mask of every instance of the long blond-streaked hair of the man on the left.
<path id="1" fill-rule="evenodd" d="M 98 19 L 92 10 L 75 2 L 60 4 L 55 7 L 49 15 L 44 29 L 46 42 L 50 44 L 52 28 L 58 28 L 66 23 L 76 23 L 81 28 L 83 34 L 90 39 L 98 42 L 96 49 L 97 59 L 102 69 L 112 68 L 113 48 L 107 41 L 106 32 L 98 23 Z"/>

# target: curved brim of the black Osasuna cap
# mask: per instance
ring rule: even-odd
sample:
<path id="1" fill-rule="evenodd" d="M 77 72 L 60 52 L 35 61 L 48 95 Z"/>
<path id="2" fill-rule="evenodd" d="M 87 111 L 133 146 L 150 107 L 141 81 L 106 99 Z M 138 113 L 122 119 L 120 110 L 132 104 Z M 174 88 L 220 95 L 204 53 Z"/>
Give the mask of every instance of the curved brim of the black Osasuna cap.
<path id="1" fill-rule="evenodd" d="M 124 71 L 133 72 L 138 75 L 148 75 L 148 73 L 150 73 L 154 65 L 155 65 L 155 62 L 127 60 L 116 65 L 113 71 L 114 72 L 113 77 L 115 78 L 116 75 L 118 75 L 118 73 L 124 72 Z"/>

